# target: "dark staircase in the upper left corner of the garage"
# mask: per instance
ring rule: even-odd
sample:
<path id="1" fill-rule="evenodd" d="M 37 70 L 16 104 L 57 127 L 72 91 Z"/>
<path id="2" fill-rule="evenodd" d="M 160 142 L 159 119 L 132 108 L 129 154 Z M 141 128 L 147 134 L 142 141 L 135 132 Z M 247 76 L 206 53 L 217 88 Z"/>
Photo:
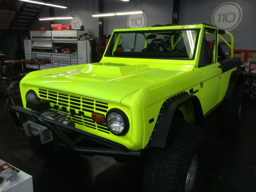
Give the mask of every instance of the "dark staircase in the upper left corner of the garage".
<path id="1" fill-rule="evenodd" d="M 16 14 L 9 25 L 9 29 L 28 31 L 39 17 L 41 11 L 44 11 L 45 8 L 45 6 L 23 3 L 16 11 Z"/>

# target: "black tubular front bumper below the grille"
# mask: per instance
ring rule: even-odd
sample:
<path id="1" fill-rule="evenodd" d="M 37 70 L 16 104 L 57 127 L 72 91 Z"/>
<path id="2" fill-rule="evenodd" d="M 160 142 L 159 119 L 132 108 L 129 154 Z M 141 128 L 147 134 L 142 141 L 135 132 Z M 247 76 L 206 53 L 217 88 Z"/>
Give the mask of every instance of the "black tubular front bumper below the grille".
<path id="1" fill-rule="evenodd" d="M 75 153 L 84 154 L 84 155 L 103 155 L 103 156 L 111 156 L 111 157 L 141 155 L 141 151 L 131 151 L 122 144 L 110 141 L 108 139 L 104 139 L 102 137 L 93 135 L 88 132 L 81 131 L 72 126 L 56 122 L 54 120 L 51 120 L 47 117 L 42 116 L 41 114 L 35 111 L 27 110 L 20 106 L 10 106 L 9 113 L 12 119 L 14 120 L 16 126 L 18 127 L 18 129 L 25 131 L 23 127 L 23 123 L 19 119 L 19 115 L 32 118 L 36 121 L 37 124 L 47 127 L 47 129 L 49 129 L 52 132 L 53 137 L 57 138 L 58 140 L 54 144 L 56 144 L 59 147 L 66 148 L 67 150 L 70 150 Z M 84 139 L 90 140 L 90 142 L 99 144 L 100 146 L 104 146 L 104 148 L 77 146 L 75 141 L 70 139 L 61 130 L 67 130 L 69 132 L 79 134 Z"/>

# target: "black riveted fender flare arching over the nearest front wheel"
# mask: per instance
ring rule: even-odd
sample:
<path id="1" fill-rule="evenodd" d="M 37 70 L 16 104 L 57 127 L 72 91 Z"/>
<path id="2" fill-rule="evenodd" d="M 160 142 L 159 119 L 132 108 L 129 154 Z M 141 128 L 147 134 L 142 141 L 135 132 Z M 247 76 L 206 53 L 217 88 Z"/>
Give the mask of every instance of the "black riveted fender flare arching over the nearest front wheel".
<path id="1" fill-rule="evenodd" d="M 170 125 L 172 124 L 175 113 L 179 110 L 180 106 L 188 101 L 191 101 L 193 104 L 196 123 L 199 125 L 203 123 L 203 111 L 198 97 L 195 95 L 189 95 L 186 92 L 170 97 L 165 100 L 162 105 L 153 134 L 147 147 L 165 146 L 169 129 L 172 129 Z"/>

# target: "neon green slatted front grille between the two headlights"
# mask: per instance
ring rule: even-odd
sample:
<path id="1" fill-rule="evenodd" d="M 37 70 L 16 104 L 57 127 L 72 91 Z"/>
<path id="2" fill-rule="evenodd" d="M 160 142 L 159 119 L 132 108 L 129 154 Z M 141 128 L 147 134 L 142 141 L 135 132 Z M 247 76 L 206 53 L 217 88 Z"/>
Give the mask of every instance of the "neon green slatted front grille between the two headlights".
<path id="1" fill-rule="evenodd" d="M 92 98 L 80 97 L 69 93 L 39 89 L 39 97 L 50 101 L 51 108 L 61 113 L 69 114 L 73 122 L 95 129 L 104 133 L 110 131 L 105 124 L 96 123 L 91 118 L 91 113 L 96 112 L 106 115 L 108 103 L 97 101 Z"/>

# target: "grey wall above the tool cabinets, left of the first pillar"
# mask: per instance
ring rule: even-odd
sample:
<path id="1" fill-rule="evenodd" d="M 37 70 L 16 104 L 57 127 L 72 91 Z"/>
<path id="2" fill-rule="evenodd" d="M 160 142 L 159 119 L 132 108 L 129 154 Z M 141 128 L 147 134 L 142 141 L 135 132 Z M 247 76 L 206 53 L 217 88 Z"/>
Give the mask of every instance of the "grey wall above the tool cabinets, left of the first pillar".
<path id="1" fill-rule="evenodd" d="M 72 5 L 71 5 L 72 3 Z M 98 10 L 98 1 L 97 0 L 87 0 L 87 1 L 79 1 L 79 0 L 72 0 L 72 1 L 61 1 L 61 0 L 53 0 L 53 4 L 57 5 L 66 5 L 69 8 L 67 9 L 60 9 L 54 8 L 54 16 L 71 16 L 79 15 L 82 19 L 83 26 L 85 26 L 85 32 L 90 33 L 91 37 L 98 37 L 99 36 L 99 22 L 98 18 L 92 17 L 94 11 Z M 72 14 L 71 14 L 71 7 L 72 7 Z M 49 8 L 45 11 L 41 17 L 49 17 Z M 55 20 L 55 24 L 63 24 L 63 25 L 70 25 L 70 20 Z M 47 30 L 50 30 L 50 22 L 49 21 L 37 21 L 34 27 L 38 26 L 46 26 Z"/>

